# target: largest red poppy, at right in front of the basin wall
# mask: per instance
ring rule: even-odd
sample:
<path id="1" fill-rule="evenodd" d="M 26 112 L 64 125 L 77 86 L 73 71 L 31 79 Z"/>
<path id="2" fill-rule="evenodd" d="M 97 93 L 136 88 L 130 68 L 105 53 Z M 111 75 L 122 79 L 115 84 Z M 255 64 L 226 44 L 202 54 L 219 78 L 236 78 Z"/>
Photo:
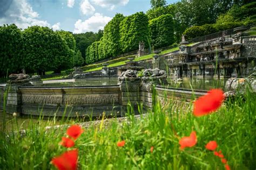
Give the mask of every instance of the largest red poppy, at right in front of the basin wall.
<path id="1" fill-rule="evenodd" d="M 212 89 L 194 102 L 194 116 L 204 116 L 217 110 L 224 101 L 223 90 Z"/>

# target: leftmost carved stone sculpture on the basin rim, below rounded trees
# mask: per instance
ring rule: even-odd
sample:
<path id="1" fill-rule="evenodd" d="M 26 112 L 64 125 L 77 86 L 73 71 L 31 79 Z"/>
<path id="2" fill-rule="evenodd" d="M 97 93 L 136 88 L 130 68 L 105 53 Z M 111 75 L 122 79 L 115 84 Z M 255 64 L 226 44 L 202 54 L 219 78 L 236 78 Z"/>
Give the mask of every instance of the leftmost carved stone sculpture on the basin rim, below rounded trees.
<path id="1" fill-rule="evenodd" d="M 29 78 L 30 76 L 28 74 L 10 74 L 7 83 L 21 86 L 31 85 L 31 83 L 29 82 Z"/>

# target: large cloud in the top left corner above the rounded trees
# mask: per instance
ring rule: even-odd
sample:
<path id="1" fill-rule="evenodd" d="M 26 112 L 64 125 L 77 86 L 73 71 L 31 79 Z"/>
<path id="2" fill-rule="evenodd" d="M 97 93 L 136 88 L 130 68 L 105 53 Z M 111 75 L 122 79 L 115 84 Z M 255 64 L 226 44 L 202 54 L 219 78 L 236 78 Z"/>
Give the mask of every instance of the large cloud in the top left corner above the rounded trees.
<path id="1" fill-rule="evenodd" d="M 39 25 L 48 26 L 50 24 L 46 20 L 38 19 L 39 14 L 33 11 L 30 4 L 26 0 L 2 0 L 3 4 L 8 4 L 8 8 L 0 11 L 0 25 L 3 24 L 16 24 L 19 28 L 26 29 L 28 26 Z"/>

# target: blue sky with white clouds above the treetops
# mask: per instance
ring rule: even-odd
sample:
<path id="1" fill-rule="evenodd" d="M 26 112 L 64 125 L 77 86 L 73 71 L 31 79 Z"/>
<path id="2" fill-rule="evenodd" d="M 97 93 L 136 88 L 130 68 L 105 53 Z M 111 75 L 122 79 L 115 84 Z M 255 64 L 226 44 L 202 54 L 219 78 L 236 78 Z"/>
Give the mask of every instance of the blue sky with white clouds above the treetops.
<path id="1" fill-rule="evenodd" d="M 167 4 L 178 0 L 167 0 Z M 116 15 L 146 12 L 150 0 L 0 0 L 0 26 L 48 26 L 73 33 L 98 32 Z"/>

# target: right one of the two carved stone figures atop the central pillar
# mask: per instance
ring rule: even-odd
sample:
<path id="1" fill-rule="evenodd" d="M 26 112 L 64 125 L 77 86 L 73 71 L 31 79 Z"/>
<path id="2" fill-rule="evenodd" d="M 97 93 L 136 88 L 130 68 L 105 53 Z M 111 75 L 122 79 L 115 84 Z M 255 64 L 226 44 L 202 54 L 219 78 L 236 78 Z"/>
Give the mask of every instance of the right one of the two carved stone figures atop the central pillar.
<path id="1" fill-rule="evenodd" d="M 165 70 L 160 70 L 159 68 L 145 69 L 143 72 L 142 81 L 143 83 L 166 84 L 166 77 L 167 74 Z"/>

